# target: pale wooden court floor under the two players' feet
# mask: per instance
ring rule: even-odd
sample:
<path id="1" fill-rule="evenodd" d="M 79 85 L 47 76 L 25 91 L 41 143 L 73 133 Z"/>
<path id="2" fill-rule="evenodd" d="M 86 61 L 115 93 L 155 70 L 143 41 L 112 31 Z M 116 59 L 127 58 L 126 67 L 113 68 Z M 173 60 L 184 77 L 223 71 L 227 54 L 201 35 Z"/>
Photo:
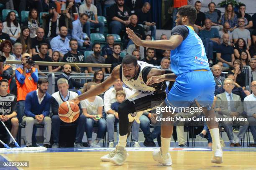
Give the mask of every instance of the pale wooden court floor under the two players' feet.
<path id="1" fill-rule="evenodd" d="M 0 162 L 29 161 L 29 167 L 3 167 L 2 170 L 255 170 L 256 147 L 223 147 L 222 164 L 210 162 L 209 147 L 171 147 L 173 165 L 164 167 L 152 158 L 158 147 L 128 147 L 128 159 L 118 166 L 101 162 L 100 157 L 114 148 L 57 148 L 44 152 L 1 153 Z"/>

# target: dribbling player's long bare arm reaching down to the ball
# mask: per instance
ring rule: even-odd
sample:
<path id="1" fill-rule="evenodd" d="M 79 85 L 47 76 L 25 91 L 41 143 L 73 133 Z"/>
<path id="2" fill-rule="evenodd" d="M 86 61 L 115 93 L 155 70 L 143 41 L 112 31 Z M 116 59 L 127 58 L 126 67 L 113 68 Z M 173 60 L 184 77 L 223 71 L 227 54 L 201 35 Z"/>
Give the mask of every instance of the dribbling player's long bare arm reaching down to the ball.
<path id="1" fill-rule="evenodd" d="M 119 70 L 120 70 L 120 65 L 116 66 L 113 69 L 110 76 L 108 76 L 108 79 L 106 79 L 105 81 L 103 81 L 100 84 L 97 84 L 94 88 L 92 88 L 92 89 L 84 92 L 83 94 L 77 96 L 72 101 L 74 101 L 76 104 L 79 104 L 79 102 L 81 100 L 87 99 L 87 98 L 92 97 L 92 96 L 97 96 L 97 95 L 102 94 L 103 92 L 107 91 L 110 88 L 110 86 L 112 86 L 113 83 L 117 79 L 120 79 Z"/>

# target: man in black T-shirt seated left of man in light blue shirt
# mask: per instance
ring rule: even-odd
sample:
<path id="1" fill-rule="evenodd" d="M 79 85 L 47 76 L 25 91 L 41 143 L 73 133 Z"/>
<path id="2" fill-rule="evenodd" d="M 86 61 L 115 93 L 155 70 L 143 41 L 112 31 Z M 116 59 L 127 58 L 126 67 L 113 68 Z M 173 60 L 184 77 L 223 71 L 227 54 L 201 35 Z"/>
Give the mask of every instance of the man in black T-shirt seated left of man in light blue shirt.
<path id="1" fill-rule="evenodd" d="M 51 45 L 49 43 L 48 40 L 46 40 L 46 38 L 44 38 L 44 29 L 38 27 L 36 29 L 36 37 L 31 39 L 31 48 L 32 48 L 32 55 L 36 55 L 39 54 L 39 44 L 41 43 L 47 43 L 48 44 L 48 54 L 49 57 L 52 56 L 52 50 L 51 50 Z"/>

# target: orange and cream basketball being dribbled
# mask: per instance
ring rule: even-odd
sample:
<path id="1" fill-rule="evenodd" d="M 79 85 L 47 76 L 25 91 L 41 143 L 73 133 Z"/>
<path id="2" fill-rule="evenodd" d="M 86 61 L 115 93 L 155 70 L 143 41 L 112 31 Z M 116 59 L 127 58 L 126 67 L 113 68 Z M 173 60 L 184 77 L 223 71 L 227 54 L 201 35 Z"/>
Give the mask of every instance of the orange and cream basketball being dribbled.
<path id="1" fill-rule="evenodd" d="M 58 114 L 63 122 L 71 123 L 79 117 L 80 110 L 73 101 L 65 101 L 59 106 Z"/>

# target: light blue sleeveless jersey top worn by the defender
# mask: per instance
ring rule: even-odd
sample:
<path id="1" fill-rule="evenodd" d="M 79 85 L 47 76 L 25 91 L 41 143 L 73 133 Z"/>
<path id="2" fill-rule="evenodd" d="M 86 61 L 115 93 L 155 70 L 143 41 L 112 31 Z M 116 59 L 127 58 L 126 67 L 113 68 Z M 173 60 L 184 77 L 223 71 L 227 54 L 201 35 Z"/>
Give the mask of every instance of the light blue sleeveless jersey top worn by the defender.
<path id="1" fill-rule="evenodd" d="M 189 29 L 189 34 L 182 43 L 171 51 L 171 67 L 175 75 L 194 70 L 209 70 L 209 63 L 205 53 L 205 47 L 201 38 L 195 31 Z"/>

